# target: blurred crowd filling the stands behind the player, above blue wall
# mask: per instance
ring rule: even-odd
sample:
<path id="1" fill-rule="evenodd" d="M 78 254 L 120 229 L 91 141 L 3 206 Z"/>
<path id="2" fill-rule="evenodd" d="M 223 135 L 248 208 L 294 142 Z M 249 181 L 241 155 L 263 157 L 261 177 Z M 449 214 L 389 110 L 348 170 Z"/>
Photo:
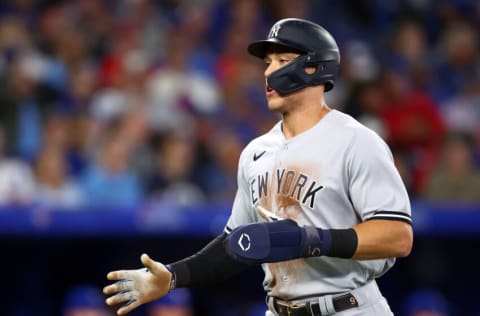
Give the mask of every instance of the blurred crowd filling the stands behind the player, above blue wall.
<path id="1" fill-rule="evenodd" d="M 312 19 L 342 61 L 327 103 L 391 146 L 412 198 L 480 202 L 480 2 L 5 0 L 0 205 L 230 204 L 279 119 L 246 53 Z"/>

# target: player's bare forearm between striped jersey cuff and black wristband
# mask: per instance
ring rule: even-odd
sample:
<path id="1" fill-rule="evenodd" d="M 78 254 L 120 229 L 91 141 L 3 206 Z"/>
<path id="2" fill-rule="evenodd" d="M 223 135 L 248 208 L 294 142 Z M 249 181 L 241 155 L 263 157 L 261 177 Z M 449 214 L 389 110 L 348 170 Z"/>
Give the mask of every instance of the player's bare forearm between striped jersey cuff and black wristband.
<path id="1" fill-rule="evenodd" d="M 396 220 L 375 219 L 354 227 L 358 247 L 354 259 L 406 257 L 413 244 L 412 226 Z"/>

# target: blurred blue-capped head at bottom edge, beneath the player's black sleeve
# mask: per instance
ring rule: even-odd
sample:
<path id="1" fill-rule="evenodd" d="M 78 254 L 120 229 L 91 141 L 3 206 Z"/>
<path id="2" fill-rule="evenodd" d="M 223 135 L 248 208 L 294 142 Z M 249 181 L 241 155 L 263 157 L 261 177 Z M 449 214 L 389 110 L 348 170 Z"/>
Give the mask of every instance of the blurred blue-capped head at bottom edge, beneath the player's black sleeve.
<path id="1" fill-rule="evenodd" d="M 147 304 L 147 316 L 193 316 L 193 298 L 188 289 L 175 289 L 161 299 Z"/>

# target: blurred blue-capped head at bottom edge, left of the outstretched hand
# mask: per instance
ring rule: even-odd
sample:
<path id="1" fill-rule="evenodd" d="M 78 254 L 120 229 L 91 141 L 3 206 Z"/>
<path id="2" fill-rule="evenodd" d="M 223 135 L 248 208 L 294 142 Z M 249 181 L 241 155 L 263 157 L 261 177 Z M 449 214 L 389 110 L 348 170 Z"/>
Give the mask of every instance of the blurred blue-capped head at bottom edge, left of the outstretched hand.
<path id="1" fill-rule="evenodd" d="M 90 284 L 70 288 L 63 298 L 63 316 L 113 316 L 102 292 Z"/>

